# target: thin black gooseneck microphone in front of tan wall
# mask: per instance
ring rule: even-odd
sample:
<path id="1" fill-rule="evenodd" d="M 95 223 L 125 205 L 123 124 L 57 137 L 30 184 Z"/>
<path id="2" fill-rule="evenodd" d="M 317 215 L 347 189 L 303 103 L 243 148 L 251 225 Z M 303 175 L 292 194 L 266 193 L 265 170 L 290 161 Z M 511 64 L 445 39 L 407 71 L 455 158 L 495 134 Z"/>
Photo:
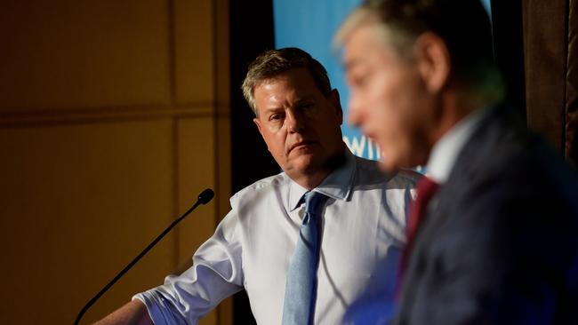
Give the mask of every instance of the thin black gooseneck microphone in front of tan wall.
<path id="1" fill-rule="evenodd" d="M 213 196 L 214 196 L 214 192 L 211 188 L 206 188 L 205 191 L 201 192 L 201 194 L 198 194 L 197 202 L 195 202 L 195 204 L 193 204 L 193 206 L 190 207 L 189 210 L 187 210 L 187 212 L 183 213 L 181 215 L 181 217 L 174 220 L 173 223 L 171 224 L 171 226 L 168 226 L 163 233 L 159 234 L 154 241 L 149 243 L 149 246 L 147 246 L 146 249 L 142 250 L 136 258 L 132 259 L 131 263 L 129 263 L 127 266 L 125 266 L 121 272 L 116 274 L 115 278 L 112 279 L 112 281 L 108 282 L 108 284 L 106 286 L 104 286 L 104 288 L 100 289 L 99 293 L 97 293 L 96 296 L 92 297 L 92 299 L 88 303 L 86 303 L 86 305 L 84 305 L 83 309 L 81 309 L 80 313 L 78 313 L 78 315 L 76 316 L 75 325 L 78 325 L 78 323 L 80 323 L 80 320 L 83 318 L 84 313 L 86 313 L 88 311 L 88 309 L 92 305 L 94 305 L 94 303 L 102 295 L 104 295 L 104 293 L 107 292 L 108 289 L 110 289 L 110 287 L 112 287 L 116 283 L 116 281 L 118 281 L 120 278 L 122 278 L 124 273 L 127 273 L 128 270 L 130 270 L 131 267 L 134 266 L 140 260 L 140 258 L 142 258 L 145 254 L 147 254 L 149 252 L 149 250 L 152 249 L 153 246 L 155 246 L 157 244 L 157 242 L 159 242 L 161 239 L 163 239 L 163 237 L 165 237 L 165 234 L 168 234 L 171 231 L 171 229 L 173 229 L 174 226 L 176 226 L 179 222 L 181 222 L 181 220 L 183 218 L 187 217 L 190 212 L 197 209 L 197 206 L 199 206 L 200 204 L 205 205 L 206 203 L 213 200 Z"/>

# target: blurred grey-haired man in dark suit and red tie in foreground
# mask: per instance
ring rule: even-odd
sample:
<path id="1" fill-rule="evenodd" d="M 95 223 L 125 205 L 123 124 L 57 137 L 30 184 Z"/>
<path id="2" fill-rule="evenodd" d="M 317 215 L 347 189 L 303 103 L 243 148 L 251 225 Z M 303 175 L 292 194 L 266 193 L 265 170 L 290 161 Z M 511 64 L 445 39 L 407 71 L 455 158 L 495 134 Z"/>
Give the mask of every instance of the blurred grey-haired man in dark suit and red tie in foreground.
<path id="1" fill-rule="evenodd" d="M 397 324 L 578 323 L 576 175 L 500 104 L 478 0 L 367 1 L 337 41 L 349 121 L 381 146 L 382 169 L 429 172 Z"/>

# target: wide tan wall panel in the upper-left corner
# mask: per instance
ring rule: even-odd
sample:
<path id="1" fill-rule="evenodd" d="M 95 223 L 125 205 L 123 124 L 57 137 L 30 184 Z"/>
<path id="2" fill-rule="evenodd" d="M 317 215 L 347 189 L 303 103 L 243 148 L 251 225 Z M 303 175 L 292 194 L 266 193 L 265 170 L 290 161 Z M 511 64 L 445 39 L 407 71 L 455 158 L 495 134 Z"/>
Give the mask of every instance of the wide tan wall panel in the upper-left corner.
<path id="1" fill-rule="evenodd" d="M 0 11 L 0 112 L 167 104 L 166 0 L 20 0 Z"/>

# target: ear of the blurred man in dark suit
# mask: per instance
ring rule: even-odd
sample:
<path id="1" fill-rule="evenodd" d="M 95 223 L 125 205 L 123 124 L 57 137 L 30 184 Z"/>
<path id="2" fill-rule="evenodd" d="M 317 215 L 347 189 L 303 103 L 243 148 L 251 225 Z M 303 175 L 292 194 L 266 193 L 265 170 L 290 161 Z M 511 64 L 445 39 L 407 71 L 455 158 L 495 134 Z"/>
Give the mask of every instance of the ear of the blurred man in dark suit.
<path id="1" fill-rule="evenodd" d="M 446 42 L 438 35 L 426 32 L 417 38 L 413 51 L 428 91 L 441 91 L 449 82 L 452 69 Z"/>

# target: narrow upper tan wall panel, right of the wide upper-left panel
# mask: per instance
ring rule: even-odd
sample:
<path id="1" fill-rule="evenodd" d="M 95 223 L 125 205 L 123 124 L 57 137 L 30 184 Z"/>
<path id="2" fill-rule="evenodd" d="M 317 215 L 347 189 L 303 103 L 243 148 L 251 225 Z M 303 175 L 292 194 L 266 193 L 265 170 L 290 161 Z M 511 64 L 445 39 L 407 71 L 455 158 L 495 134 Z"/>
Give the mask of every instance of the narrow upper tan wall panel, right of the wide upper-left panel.
<path id="1" fill-rule="evenodd" d="M 212 3 L 174 0 L 175 89 L 179 104 L 214 100 Z"/>

